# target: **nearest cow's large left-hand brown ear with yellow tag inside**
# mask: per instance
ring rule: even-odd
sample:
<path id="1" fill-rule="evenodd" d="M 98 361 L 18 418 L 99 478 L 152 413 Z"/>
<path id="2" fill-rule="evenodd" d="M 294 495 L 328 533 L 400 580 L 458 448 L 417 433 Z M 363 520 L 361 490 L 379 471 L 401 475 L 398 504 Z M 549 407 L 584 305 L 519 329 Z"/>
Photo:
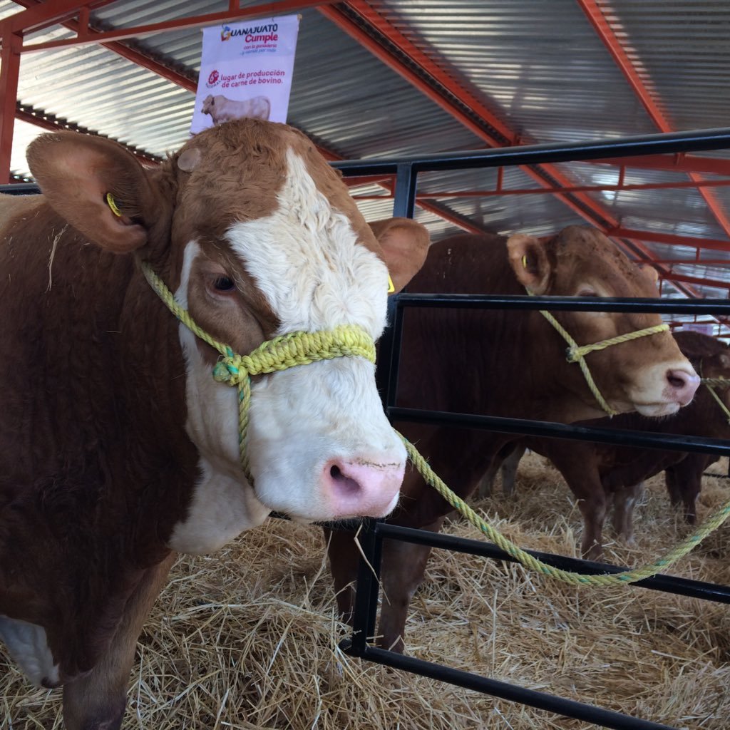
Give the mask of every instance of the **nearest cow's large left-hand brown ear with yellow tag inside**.
<path id="1" fill-rule="evenodd" d="M 77 231 L 113 253 L 147 243 L 158 195 L 124 147 L 101 137 L 58 132 L 34 139 L 26 155 L 51 207 Z"/>

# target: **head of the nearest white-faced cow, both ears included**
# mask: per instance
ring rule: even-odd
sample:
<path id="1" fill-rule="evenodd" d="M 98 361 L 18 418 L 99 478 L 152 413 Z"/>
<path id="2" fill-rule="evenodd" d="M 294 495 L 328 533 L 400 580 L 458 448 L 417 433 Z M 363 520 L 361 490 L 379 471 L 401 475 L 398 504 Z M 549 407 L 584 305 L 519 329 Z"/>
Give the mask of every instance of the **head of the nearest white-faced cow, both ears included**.
<path id="1" fill-rule="evenodd" d="M 283 124 L 240 119 L 208 128 L 155 170 L 108 139 L 47 134 L 28 147 L 28 164 L 61 218 L 102 250 L 136 252 L 199 326 L 240 354 L 280 333 L 345 323 L 377 337 L 385 324 L 384 262 L 398 290 L 429 246 L 423 226 L 402 218 L 381 221 L 376 239 L 315 145 Z M 129 343 L 134 368 L 144 365 L 150 393 L 168 383 L 177 398 L 182 383 L 169 378 L 178 363 L 166 370 L 146 350 L 147 332 L 150 348 L 160 334 L 169 337 L 172 315 L 155 301 L 140 322 L 155 295 L 139 271 L 124 286 L 134 306 L 123 307 L 120 328 L 142 339 Z M 214 550 L 271 510 L 313 520 L 380 516 L 394 507 L 405 451 L 383 415 L 372 364 L 339 358 L 255 379 L 252 486 L 239 465 L 237 392 L 212 379 L 215 350 L 185 326 L 179 332 L 185 429 L 200 462 L 192 493 L 178 477 L 188 512 L 172 526 L 170 547 Z M 179 403 L 164 406 L 177 412 Z M 187 452 L 188 439 L 174 429 L 161 431 L 157 444 L 153 423 L 150 414 L 150 448 L 164 458 Z"/>

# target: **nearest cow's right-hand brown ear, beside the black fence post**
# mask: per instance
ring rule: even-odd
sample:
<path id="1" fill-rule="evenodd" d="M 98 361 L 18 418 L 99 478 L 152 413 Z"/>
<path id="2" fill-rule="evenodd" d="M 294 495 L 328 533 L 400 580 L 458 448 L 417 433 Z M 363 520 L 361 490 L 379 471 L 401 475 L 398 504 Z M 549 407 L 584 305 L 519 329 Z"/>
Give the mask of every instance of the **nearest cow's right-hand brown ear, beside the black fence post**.
<path id="1" fill-rule="evenodd" d="M 369 226 L 383 249 L 393 291 L 401 291 L 426 261 L 431 242 L 429 231 L 410 218 L 377 220 Z"/>

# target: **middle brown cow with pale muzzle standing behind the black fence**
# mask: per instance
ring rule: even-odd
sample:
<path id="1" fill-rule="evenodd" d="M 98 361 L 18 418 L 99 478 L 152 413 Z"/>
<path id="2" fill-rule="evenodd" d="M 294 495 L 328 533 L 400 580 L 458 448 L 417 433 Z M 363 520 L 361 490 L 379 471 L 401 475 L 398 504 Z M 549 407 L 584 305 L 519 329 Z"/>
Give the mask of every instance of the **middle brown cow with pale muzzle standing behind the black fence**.
<path id="1" fill-rule="evenodd" d="M 431 246 L 410 291 L 656 297 L 656 285 L 599 231 L 571 226 L 545 241 L 461 235 Z M 658 325 L 658 315 L 555 312 L 579 345 Z M 691 401 L 699 378 L 669 332 L 589 353 L 586 362 L 616 411 L 668 415 Z M 570 423 L 602 415 L 566 343 L 537 311 L 410 308 L 404 318 L 399 405 Z M 461 497 L 517 435 L 396 424 Z M 393 523 L 438 531 L 451 507 L 408 473 Z M 407 607 L 430 549 L 386 541 L 381 645 L 402 649 Z M 350 616 L 358 554 L 352 536 L 331 535 L 339 607 Z"/>

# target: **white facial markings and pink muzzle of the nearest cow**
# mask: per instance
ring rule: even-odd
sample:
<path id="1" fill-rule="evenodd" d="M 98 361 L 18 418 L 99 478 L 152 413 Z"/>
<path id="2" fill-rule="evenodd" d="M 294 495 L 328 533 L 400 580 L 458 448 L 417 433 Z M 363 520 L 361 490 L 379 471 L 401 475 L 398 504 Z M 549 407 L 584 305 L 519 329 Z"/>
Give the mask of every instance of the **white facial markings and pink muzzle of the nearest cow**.
<path id="1" fill-rule="evenodd" d="M 333 209 L 291 150 L 287 166 L 275 210 L 226 231 L 232 257 L 277 319 L 275 334 L 357 324 L 377 339 L 385 326 L 385 264 L 358 242 L 350 218 Z M 196 285 L 196 277 L 215 274 L 199 242 L 191 241 L 177 301 L 195 316 L 196 298 L 217 297 L 223 316 L 227 308 L 231 321 L 240 320 L 242 312 L 233 310 L 239 300 Z M 237 393 L 212 380 L 205 346 L 182 325 L 180 339 L 188 364 L 187 429 L 203 476 L 172 548 L 218 548 L 270 510 L 301 520 L 391 512 L 406 454 L 383 414 L 369 361 L 336 358 L 255 380 L 247 434 L 252 490 L 239 465 Z"/>

